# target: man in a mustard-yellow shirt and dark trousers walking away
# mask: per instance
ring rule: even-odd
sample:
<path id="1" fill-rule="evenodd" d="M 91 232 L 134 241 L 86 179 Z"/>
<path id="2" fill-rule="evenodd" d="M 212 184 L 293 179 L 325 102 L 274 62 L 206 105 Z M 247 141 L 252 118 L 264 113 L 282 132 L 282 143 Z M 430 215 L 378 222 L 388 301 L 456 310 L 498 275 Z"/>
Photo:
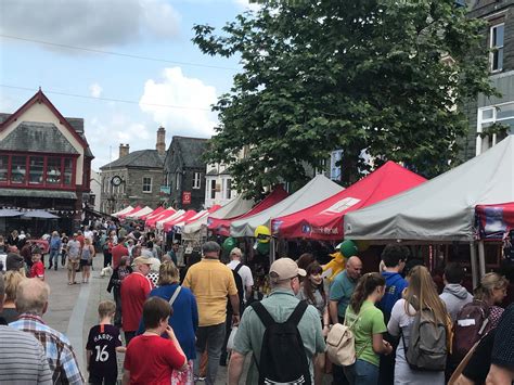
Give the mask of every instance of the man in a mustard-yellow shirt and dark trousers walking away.
<path id="1" fill-rule="evenodd" d="M 216 383 L 224 342 L 227 296 L 233 309 L 233 325 L 236 325 L 240 321 L 240 298 L 232 270 L 219 260 L 219 245 L 216 242 L 206 242 L 202 246 L 202 260 L 189 268 L 182 285 L 193 292 L 198 305 L 195 374 L 198 374 L 202 354 L 207 349 L 208 361 L 205 383 L 209 385 Z"/>

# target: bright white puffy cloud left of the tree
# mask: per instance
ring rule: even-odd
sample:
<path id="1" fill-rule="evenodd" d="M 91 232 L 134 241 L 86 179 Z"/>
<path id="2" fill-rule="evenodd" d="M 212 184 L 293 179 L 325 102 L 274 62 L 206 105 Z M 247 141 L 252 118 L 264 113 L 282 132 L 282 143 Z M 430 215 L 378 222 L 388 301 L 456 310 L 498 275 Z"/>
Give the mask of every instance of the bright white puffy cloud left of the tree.
<path id="1" fill-rule="evenodd" d="M 214 133 L 217 125 L 217 116 L 210 112 L 210 105 L 216 101 L 214 87 L 204 85 L 200 79 L 185 77 L 180 67 L 172 67 L 164 69 L 162 79 L 146 80 L 139 105 L 171 134 L 205 138 Z"/>

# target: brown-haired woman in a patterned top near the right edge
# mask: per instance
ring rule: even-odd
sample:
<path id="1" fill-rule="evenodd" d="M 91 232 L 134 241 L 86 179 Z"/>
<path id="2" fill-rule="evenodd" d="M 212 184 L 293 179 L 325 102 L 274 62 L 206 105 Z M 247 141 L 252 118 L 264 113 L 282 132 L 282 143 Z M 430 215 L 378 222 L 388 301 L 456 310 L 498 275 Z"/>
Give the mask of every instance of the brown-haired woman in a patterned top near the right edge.
<path id="1" fill-rule="evenodd" d="M 496 272 L 490 272 L 484 275 L 480 283 L 474 291 L 473 299 L 483 300 L 490 306 L 489 322 L 490 329 L 498 326 L 500 317 L 503 313 L 503 308 L 496 306 L 501 304 L 506 296 L 506 287 L 509 281 Z"/>

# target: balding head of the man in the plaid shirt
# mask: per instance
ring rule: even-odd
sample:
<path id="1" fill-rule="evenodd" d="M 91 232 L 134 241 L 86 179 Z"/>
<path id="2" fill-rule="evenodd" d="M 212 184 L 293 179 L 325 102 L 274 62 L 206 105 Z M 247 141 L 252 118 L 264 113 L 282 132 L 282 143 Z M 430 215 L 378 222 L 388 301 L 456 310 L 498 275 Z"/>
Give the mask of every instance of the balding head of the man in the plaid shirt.
<path id="1" fill-rule="evenodd" d="M 16 290 L 16 310 L 42 316 L 47 311 L 50 287 L 37 278 L 23 280 Z"/>

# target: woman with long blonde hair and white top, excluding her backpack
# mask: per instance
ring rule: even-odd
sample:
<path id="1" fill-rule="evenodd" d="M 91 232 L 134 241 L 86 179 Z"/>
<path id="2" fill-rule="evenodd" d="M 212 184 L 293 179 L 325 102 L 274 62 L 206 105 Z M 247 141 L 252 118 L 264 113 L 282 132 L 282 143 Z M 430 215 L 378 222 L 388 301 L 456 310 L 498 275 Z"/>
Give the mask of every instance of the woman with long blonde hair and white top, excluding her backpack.
<path id="1" fill-rule="evenodd" d="M 424 266 L 415 266 L 407 278 L 409 286 L 404 297 L 393 307 L 387 330 L 394 336 L 400 336 L 396 349 L 395 385 L 402 384 L 445 384 L 445 372 L 413 371 L 406 359 L 404 346 L 409 346 L 411 324 L 420 309 L 429 308 L 434 311 L 435 321 L 448 324 L 449 315 L 439 298 L 431 273 Z M 447 332 L 447 338 L 449 338 Z"/>

